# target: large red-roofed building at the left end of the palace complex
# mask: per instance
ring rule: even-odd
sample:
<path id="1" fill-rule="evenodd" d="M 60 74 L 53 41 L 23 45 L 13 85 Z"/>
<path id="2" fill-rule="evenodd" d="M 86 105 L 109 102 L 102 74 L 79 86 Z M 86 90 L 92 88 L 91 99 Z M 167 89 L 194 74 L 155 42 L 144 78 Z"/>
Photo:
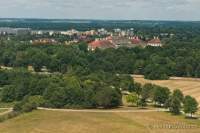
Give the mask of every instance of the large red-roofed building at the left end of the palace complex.
<path id="1" fill-rule="evenodd" d="M 96 48 L 107 49 L 116 47 L 107 39 L 96 39 L 95 41 L 88 44 L 88 50 L 94 51 Z"/>

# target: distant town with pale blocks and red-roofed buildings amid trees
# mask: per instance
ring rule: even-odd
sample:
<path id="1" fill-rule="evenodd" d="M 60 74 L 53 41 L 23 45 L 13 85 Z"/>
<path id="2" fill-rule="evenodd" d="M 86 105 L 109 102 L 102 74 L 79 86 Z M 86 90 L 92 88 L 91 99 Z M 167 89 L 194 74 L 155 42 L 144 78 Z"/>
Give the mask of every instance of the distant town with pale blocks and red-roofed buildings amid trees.
<path id="1" fill-rule="evenodd" d="M 162 47 L 163 42 L 160 37 L 173 37 L 172 33 L 161 33 L 159 36 L 147 38 L 143 35 L 135 34 L 134 28 L 112 29 L 100 28 L 96 30 L 78 31 L 75 29 L 58 30 L 32 30 L 31 28 L 0 28 L 0 35 L 11 40 L 10 36 L 32 36 L 29 41 L 33 45 L 73 45 L 80 42 L 88 44 L 88 50 L 119 48 L 119 47 Z"/>

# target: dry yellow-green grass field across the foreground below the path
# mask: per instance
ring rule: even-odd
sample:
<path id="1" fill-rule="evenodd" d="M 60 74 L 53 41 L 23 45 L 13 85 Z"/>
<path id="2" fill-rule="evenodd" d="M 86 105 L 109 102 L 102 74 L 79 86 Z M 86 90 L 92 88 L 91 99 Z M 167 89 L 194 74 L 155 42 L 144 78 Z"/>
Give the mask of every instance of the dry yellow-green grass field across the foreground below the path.
<path id="1" fill-rule="evenodd" d="M 0 133 L 199 133 L 199 126 L 198 120 L 187 120 L 165 112 L 91 113 L 37 110 L 0 123 Z"/>

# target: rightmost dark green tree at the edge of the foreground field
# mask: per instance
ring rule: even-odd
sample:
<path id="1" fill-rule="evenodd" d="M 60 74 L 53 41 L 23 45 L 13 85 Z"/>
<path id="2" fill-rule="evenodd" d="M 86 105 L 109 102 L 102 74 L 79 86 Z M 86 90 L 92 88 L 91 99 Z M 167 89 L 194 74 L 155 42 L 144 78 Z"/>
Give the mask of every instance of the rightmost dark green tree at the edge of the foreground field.
<path id="1" fill-rule="evenodd" d="M 190 113 L 191 117 L 198 110 L 198 102 L 191 96 L 185 96 L 184 98 L 184 112 Z"/>

